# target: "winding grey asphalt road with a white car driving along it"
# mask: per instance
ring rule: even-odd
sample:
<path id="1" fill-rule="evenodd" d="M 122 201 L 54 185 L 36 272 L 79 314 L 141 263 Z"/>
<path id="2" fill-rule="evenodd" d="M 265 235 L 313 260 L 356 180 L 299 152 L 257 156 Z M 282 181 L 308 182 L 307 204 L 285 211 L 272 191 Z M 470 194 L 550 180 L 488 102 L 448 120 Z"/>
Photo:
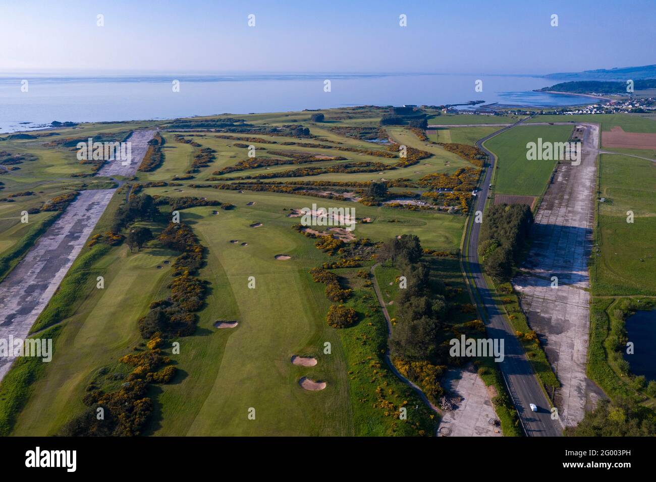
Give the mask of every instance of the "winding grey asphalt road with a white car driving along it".
<path id="1" fill-rule="evenodd" d="M 485 209 L 485 200 L 489 192 L 489 184 L 492 179 L 492 171 L 496 160 L 493 153 L 483 147 L 483 142 L 522 122 L 514 123 L 476 142 L 476 147 L 483 150 L 489 156 L 489 166 L 485 169 L 481 190 L 478 192 L 476 202 L 474 203 L 475 211 L 483 212 Z M 523 348 L 510 325 L 508 325 L 505 317 L 497 309 L 497 305 L 492 298 L 493 293 L 487 287 L 485 278 L 483 278 L 480 264 L 478 263 L 478 253 L 476 252 L 478 249 L 481 224 L 472 222 L 473 219 L 474 217 L 470 216 L 471 233 L 468 251 L 466 252 L 468 272 L 472 275 L 478 295 L 480 296 L 480 302 L 478 304 L 484 312 L 483 315 L 487 321 L 487 335 L 491 338 L 504 339 L 505 358 L 504 361 L 499 363 L 499 368 L 501 369 L 512 402 L 518 411 L 522 428 L 525 434 L 530 437 L 560 436 L 562 435 L 562 425 L 559 420 L 551 419 L 549 402 L 537 378 L 535 378 L 533 368 L 526 358 Z M 484 216 L 483 222 L 485 222 Z M 529 407 L 530 403 L 537 405 L 537 412 L 531 411 Z"/>

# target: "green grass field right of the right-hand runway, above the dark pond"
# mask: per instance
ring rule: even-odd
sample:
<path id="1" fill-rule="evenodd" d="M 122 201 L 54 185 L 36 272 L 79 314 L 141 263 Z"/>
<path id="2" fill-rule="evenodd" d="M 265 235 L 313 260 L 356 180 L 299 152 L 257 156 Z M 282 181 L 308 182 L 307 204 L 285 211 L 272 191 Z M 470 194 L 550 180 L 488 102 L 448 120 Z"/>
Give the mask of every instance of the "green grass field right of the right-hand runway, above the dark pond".
<path id="1" fill-rule="evenodd" d="M 595 295 L 656 294 L 656 165 L 621 155 L 600 156 L 597 237 L 592 254 Z M 628 223 L 627 212 L 634 213 Z"/>

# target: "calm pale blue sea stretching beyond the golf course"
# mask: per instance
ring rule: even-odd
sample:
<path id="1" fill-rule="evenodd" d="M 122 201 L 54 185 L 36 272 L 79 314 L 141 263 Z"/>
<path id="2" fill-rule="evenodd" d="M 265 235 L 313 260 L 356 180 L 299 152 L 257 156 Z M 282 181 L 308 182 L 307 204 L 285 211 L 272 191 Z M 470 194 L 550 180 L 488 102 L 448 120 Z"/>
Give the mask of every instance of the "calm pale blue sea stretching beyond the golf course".
<path id="1" fill-rule="evenodd" d="M 474 83 L 483 81 L 483 91 Z M 179 81 L 179 92 L 173 81 Z M 331 81 L 325 92 L 324 81 Z M 24 90 L 27 83 L 27 92 Z M 484 100 L 518 106 L 566 106 L 580 96 L 531 92 L 553 79 L 506 75 L 245 74 L 0 75 L 0 132 L 52 121 L 171 119 L 218 113 L 295 111 L 359 105 L 458 104 Z M 22 89 L 23 87 L 23 89 Z"/>

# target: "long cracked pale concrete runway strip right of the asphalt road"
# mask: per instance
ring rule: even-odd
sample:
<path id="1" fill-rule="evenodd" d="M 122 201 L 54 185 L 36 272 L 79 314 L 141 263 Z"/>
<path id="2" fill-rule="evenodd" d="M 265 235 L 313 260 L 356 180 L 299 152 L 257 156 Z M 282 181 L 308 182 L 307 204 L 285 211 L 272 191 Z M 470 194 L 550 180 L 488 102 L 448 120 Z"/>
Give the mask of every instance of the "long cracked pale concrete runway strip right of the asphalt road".
<path id="1" fill-rule="evenodd" d="M 598 125 L 584 124 L 580 165 L 558 165 L 535 216 L 533 245 L 513 279 L 531 329 L 558 376 L 554 402 L 566 426 L 583 419 L 592 382 L 586 377 Z M 557 277 L 557 287 L 555 279 Z"/>

